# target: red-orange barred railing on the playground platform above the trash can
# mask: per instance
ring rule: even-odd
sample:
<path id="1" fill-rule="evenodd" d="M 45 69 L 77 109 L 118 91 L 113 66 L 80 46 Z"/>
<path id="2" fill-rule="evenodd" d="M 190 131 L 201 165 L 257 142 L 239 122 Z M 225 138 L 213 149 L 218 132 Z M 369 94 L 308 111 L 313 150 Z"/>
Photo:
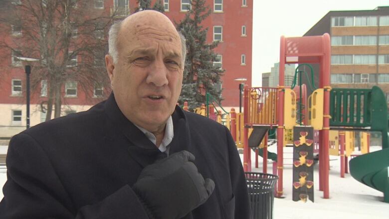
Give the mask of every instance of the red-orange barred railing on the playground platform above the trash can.
<path id="1" fill-rule="evenodd" d="M 244 95 L 244 110 L 248 111 L 245 125 L 277 125 L 277 88 L 246 88 Z"/>

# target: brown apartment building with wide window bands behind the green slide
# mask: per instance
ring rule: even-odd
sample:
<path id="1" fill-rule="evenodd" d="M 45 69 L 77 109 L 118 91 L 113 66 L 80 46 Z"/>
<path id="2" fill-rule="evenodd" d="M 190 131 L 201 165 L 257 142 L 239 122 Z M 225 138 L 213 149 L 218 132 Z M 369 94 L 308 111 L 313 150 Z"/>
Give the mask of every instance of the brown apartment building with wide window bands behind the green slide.
<path id="1" fill-rule="evenodd" d="M 389 101 L 389 6 L 330 11 L 304 36 L 326 32 L 331 35 L 331 86 L 378 85 Z"/>

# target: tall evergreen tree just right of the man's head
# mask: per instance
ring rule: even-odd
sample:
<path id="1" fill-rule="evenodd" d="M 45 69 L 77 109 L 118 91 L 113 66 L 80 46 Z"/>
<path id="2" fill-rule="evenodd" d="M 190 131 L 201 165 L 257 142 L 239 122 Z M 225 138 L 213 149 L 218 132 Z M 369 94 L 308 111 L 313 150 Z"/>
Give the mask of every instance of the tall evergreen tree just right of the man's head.
<path id="1" fill-rule="evenodd" d="M 216 54 L 212 49 L 217 46 L 218 41 L 206 43 L 208 28 L 203 28 L 201 25 L 210 12 L 209 6 L 205 5 L 205 0 L 192 0 L 192 9 L 180 23 L 177 23 L 177 29 L 187 39 L 183 89 L 179 103 L 188 101 L 190 109 L 205 103 L 205 92 L 210 93 L 217 101 L 222 100 L 221 90 L 215 85 L 220 83 L 220 75 L 224 70 L 213 66 Z"/>

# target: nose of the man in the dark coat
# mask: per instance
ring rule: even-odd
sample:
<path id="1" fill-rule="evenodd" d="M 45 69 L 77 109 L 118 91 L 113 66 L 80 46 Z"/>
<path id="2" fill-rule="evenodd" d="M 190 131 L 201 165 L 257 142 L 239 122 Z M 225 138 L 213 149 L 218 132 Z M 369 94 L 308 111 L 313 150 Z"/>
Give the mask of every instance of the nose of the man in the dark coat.
<path id="1" fill-rule="evenodd" d="M 149 74 L 147 75 L 146 82 L 152 83 L 157 87 L 168 85 L 169 81 L 167 78 L 168 69 L 165 66 L 163 60 L 154 60 L 151 65 Z"/>

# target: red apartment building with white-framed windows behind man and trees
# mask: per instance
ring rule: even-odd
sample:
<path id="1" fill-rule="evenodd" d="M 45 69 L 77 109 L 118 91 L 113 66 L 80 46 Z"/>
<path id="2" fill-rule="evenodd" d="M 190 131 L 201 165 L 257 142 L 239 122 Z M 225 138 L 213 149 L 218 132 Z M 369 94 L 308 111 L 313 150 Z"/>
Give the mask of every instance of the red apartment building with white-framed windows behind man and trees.
<path id="1" fill-rule="evenodd" d="M 118 12 L 118 19 L 135 12 L 139 7 L 138 0 L 93 0 L 96 13 Z M 152 5 L 156 0 L 152 0 Z M 173 21 L 179 22 L 192 7 L 190 0 L 162 0 L 165 14 Z M 23 1 L 15 0 L 15 4 Z M 247 78 L 246 84 L 251 85 L 251 60 L 252 60 L 252 16 L 253 0 L 206 0 L 206 5 L 211 9 L 210 15 L 202 22 L 202 26 L 208 29 L 207 42 L 218 40 L 220 43 L 214 49 L 218 60 L 214 65 L 225 69 L 221 77 L 223 89 L 223 107 L 239 106 L 239 81 L 235 78 Z M 87 16 L 88 14 L 85 14 Z M 10 31 L 0 32 L 0 37 L 12 39 L 23 34 L 22 29 L 16 26 L 8 28 Z M 104 32 L 107 37 L 107 32 Z M 1 51 L 9 54 L 8 60 L 0 61 L 0 137 L 10 137 L 25 129 L 26 125 L 26 92 L 25 74 L 23 66 L 15 58 L 16 54 L 10 50 Z M 81 62 L 80 57 L 75 57 L 74 62 Z M 1 66 L 2 65 L 2 66 Z M 4 72 L 4 66 L 11 70 Z M 7 68 L 9 69 L 9 68 Z M 33 72 L 32 72 L 33 73 Z M 64 83 L 62 88 L 63 109 L 62 115 L 89 109 L 100 101 L 105 88 L 95 87 L 91 93 L 93 99 L 83 93 L 81 84 L 76 81 Z M 45 113 L 40 111 L 40 104 L 47 101 L 47 83 L 42 80 L 40 87 L 31 90 L 30 124 L 36 125 L 44 121 Z M 91 95 L 89 95 L 91 96 Z"/>

